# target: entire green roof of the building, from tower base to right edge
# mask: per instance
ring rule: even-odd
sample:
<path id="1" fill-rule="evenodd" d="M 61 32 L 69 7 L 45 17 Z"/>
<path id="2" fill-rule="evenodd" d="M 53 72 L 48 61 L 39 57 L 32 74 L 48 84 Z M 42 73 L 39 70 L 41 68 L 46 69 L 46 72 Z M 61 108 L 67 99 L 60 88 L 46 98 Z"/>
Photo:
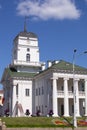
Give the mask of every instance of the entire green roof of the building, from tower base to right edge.
<path id="1" fill-rule="evenodd" d="M 52 70 L 53 72 L 59 72 L 59 73 L 73 73 L 73 64 L 70 62 L 66 62 L 63 60 L 60 60 L 58 63 L 53 62 L 52 66 L 47 68 L 44 71 L 41 71 L 40 73 L 28 73 L 28 72 L 17 72 L 15 69 L 6 68 L 4 75 L 8 75 L 8 77 L 25 77 L 25 78 L 34 78 L 34 76 L 37 76 L 41 73 L 44 73 L 45 71 Z M 77 74 L 85 74 L 87 75 L 87 68 L 75 65 L 75 73 Z"/>

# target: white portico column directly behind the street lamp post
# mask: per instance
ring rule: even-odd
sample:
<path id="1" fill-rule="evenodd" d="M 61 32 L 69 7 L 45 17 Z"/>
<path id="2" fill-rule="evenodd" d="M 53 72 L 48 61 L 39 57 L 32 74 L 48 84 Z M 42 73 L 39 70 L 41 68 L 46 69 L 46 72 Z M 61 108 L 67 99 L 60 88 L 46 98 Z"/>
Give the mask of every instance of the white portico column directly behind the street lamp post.
<path id="1" fill-rule="evenodd" d="M 75 113 L 76 113 L 76 116 L 80 116 L 79 114 L 79 91 L 78 91 L 78 80 L 79 79 L 75 79 L 74 80 L 74 87 L 75 87 L 75 91 L 74 91 L 74 96 L 75 96 Z"/>

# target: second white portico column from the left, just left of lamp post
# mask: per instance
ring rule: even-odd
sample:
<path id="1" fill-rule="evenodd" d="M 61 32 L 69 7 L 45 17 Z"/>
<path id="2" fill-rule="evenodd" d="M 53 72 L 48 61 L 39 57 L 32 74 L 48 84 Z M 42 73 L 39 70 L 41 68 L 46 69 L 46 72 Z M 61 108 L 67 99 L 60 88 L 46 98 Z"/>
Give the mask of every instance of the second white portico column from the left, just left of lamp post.
<path id="1" fill-rule="evenodd" d="M 64 78 L 64 116 L 69 116 L 68 79 Z"/>

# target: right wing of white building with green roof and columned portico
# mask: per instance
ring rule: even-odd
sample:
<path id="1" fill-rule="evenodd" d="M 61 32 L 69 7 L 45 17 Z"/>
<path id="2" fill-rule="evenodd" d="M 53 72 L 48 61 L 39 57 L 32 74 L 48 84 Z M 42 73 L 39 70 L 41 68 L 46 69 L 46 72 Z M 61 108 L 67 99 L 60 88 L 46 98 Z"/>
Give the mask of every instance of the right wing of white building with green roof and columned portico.
<path id="1" fill-rule="evenodd" d="M 76 74 L 76 116 L 87 115 L 87 75 L 84 68 L 75 66 Z M 47 115 L 53 110 L 53 116 L 73 116 L 74 90 L 72 64 L 59 61 L 35 76 L 36 110 Z"/>

